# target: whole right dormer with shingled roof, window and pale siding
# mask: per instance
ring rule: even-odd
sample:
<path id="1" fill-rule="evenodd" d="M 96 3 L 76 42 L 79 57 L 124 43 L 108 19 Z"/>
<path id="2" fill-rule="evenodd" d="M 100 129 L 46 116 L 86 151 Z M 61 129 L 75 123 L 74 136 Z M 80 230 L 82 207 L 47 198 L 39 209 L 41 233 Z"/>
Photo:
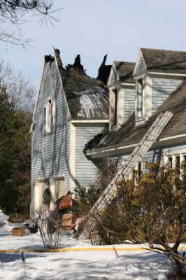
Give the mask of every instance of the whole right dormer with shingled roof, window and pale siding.
<path id="1" fill-rule="evenodd" d="M 133 76 L 136 125 L 141 125 L 186 76 L 186 52 L 140 48 Z"/>

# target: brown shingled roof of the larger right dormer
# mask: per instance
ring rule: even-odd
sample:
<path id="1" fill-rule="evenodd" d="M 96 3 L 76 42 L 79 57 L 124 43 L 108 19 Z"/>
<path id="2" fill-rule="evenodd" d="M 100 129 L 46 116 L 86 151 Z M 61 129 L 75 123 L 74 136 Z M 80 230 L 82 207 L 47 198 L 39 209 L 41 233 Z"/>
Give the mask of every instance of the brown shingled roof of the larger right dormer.
<path id="1" fill-rule="evenodd" d="M 186 52 L 141 48 L 147 69 L 155 72 L 186 74 Z"/>

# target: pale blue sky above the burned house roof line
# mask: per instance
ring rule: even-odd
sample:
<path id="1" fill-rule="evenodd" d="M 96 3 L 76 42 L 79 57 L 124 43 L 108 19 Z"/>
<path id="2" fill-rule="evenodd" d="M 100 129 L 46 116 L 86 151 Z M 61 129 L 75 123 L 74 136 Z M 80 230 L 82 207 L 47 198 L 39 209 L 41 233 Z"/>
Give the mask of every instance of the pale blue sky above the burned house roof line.
<path id="1" fill-rule="evenodd" d="M 113 60 L 135 62 L 138 49 L 159 48 L 186 51 L 185 0 L 53 0 L 60 22 L 48 28 L 38 24 L 39 17 L 27 18 L 24 27 L 31 44 L 9 47 L 0 58 L 16 71 L 29 76 L 38 87 L 44 55 L 59 48 L 64 65 L 81 55 L 90 76 L 96 77 L 103 55 Z"/>

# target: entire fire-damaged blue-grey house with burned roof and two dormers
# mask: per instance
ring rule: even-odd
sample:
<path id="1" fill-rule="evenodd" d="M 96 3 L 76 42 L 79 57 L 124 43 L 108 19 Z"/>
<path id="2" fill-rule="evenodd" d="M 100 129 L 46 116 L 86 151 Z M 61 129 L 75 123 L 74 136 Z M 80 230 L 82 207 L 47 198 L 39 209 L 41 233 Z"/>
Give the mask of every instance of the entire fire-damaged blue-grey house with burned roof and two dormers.
<path id="1" fill-rule="evenodd" d="M 69 190 L 94 183 L 104 158 L 113 158 L 118 169 L 128 160 L 139 175 L 145 162 L 179 167 L 186 158 L 186 52 L 141 48 L 136 63 L 113 62 L 108 68 L 105 61 L 94 79 L 79 56 L 66 68 L 59 50 L 45 56 L 31 125 L 33 215 L 45 188 L 54 209 Z M 152 132 L 150 146 L 142 144 Z M 138 146 L 148 148 L 129 162 Z"/>

